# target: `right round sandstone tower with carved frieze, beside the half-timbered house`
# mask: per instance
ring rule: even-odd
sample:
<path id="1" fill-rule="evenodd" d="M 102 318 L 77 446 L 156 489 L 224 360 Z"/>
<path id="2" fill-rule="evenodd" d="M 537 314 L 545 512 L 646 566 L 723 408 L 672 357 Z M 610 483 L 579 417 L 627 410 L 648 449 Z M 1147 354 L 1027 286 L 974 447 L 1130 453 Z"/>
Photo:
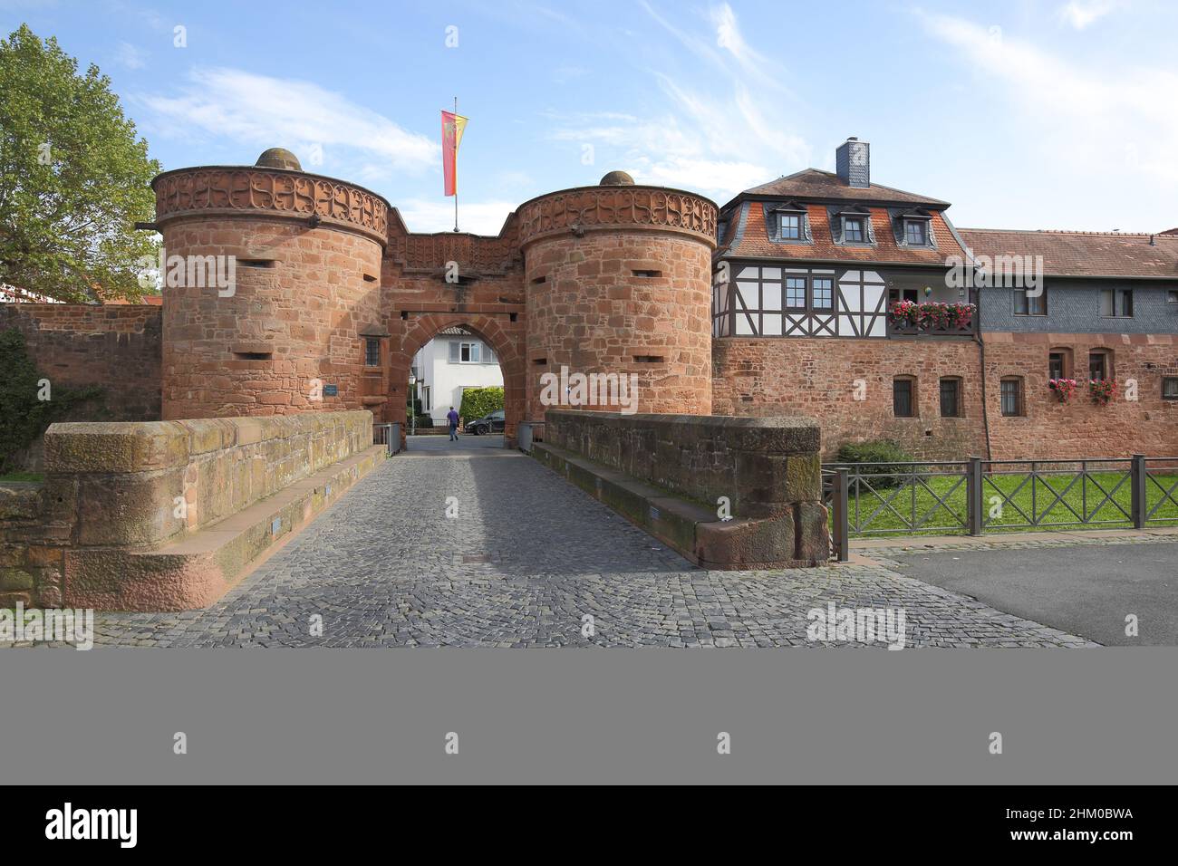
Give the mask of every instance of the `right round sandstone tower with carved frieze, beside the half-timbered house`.
<path id="1" fill-rule="evenodd" d="M 518 217 L 527 417 L 557 405 L 710 415 L 715 204 L 611 171 Z"/>

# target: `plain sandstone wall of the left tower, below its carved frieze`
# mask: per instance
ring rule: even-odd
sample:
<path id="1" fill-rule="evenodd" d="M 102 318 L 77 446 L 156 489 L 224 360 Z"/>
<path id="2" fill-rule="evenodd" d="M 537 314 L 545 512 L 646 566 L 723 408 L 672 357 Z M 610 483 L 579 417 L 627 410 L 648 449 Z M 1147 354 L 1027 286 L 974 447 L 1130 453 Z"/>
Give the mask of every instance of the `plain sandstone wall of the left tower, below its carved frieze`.
<path id="1" fill-rule="evenodd" d="M 168 256 L 236 257 L 231 296 L 164 287 L 165 418 L 363 408 L 359 332 L 383 322 L 377 242 L 292 220 L 209 217 L 173 219 L 164 243 Z"/>

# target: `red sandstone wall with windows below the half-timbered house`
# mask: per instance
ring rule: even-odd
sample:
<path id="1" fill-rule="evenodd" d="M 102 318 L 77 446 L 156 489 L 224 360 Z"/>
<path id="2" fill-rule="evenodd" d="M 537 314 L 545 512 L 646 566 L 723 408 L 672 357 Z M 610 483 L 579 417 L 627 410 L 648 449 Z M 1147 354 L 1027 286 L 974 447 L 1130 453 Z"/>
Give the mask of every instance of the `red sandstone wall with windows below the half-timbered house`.
<path id="1" fill-rule="evenodd" d="M 889 438 L 916 460 L 1121 457 L 1178 452 L 1178 401 L 1162 398 L 1162 377 L 1178 376 L 1172 335 L 985 333 L 987 418 L 981 355 L 972 341 L 717 338 L 713 343 L 713 411 L 717 415 L 805 415 L 822 429 L 823 458 L 843 442 Z M 1087 377 L 1092 349 L 1112 352 L 1117 399 L 1092 403 L 1086 386 L 1061 404 L 1047 388 L 1047 355 L 1072 351 L 1073 376 Z M 898 418 L 892 381 L 916 382 L 916 417 Z M 1021 377 L 1024 415 L 1001 414 L 1004 377 Z M 940 414 L 940 379 L 955 377 L 961 417 Z M 1127 379 L 1138 399 L 1125 399 Z M 866 385 L 855 399 L 856 381 Z"/>

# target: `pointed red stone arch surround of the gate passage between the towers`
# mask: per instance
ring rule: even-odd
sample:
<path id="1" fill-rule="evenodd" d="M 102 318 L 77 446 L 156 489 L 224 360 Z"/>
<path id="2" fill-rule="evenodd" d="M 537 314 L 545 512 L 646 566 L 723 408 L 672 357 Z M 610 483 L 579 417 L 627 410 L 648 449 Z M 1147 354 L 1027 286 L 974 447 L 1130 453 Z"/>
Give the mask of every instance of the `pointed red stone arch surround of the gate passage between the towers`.
<path id="1" fill-rule="evenodd" d="M 524 414 L 524 330 L 522 323 L 503 322 L 502 317 L 463 312 L 435 312 L 417 316 L 404 323 L 399 339 L 390 339 L 390 421 L 401 423 L 402 444 L 405 436 L 405 386 L 413 356 L 446 328 L 465 328 L 487 343 L 498 358 L 503 372 L 504 435 L 508 448 L 516 444 L 516 430 Z"/>

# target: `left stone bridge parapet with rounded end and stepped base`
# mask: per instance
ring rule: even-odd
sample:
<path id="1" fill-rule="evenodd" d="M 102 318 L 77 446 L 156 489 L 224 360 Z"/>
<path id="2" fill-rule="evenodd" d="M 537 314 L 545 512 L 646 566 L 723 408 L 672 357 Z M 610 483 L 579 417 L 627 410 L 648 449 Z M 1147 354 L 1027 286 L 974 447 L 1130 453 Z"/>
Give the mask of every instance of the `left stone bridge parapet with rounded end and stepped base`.
<path id="1" fill-rule="evenodd" d="M 368 411 L 53 424 L 45 483 L 0 496 L 0 590 L 47 607 L 210 604 L 384 452 Z"/>

